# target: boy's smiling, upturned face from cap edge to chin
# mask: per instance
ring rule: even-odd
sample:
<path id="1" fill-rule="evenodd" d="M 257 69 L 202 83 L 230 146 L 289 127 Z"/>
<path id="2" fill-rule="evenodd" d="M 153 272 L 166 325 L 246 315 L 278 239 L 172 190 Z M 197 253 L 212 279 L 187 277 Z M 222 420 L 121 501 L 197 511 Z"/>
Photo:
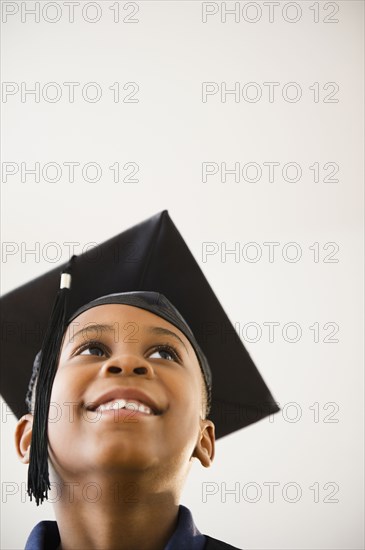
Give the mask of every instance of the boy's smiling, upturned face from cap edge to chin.
<path id="1" fill-rule="evenodd" d="M 190 342 L 164 319 L 120 304 L 85 311 L 66 331 L 53 383 L 53 468 L 70 479 L 113 475 L 121 467 L 186 474 L 191 456 L 209 466 L 214 425 L 204 420 L 202 384 Z M 158 414 L 137 413 L 132 404 L 123 411 L 92 410 L 115 403 L 127 389 L 129 401 L 147 402 Z M 133 392 L 140 392 L 138 399 Z"/>

